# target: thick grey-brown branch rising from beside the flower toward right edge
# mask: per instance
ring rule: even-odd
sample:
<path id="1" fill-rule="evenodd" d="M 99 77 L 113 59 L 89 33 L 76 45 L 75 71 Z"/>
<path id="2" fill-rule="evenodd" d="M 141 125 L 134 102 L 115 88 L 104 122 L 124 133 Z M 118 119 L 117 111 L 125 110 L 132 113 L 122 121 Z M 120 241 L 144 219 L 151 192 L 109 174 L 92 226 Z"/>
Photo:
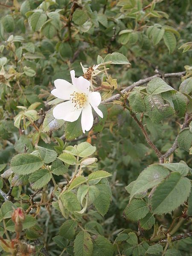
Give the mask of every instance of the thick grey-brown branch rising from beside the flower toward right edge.
<path id="1" fill-rule="evenodd" d="M 178 72 L 178 73 L 166 73 L 163 75 L 164 78 L 169 78 L 169 77 L 182 77 L 185 75 L 185 71 L 183 72 Z M 132 90 L 134 87 L 136 86 L 140 86 L 140 85 L 143 85 L 143 84 L 146 84 L 148 83 L 149 81 L 151 81 L 153 78 L 155 77 L 162 77 L 162 74 L 158 73 L 154 76 L 150 76 L 150 77 L 147 77 L 145 79 L 140 79 L 139 81 L 129 85 L 128 87 L 126 87 L 125 89 L 121 90 L 121 93 L 125 94 L 126 92 L 128 92 L 129 90 Z M 109 99 L 106 99 L 104 101 L 102 101 L 102 103 L 106 103 L 106 102 L 113 102 L 114 100 L 117 100 L 120 98 L 120 94 L 117 93 L 113 96 L 111 96 Z"/>

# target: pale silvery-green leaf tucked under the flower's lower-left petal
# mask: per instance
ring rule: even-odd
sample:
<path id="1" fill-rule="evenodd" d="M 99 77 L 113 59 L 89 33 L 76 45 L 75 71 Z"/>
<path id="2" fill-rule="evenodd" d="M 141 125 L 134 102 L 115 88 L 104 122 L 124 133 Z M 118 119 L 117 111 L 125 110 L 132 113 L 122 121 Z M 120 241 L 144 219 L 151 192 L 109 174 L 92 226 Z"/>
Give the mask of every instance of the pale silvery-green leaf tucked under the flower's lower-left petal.
<path id="1" fill-rule="evenodd" d="M 52 114 L 52 109 L 47 111 L 47 114 L 45 116 L 44 122 L 43 122 L 43 131 L 48 132 L 48 131 L 53 131 L 53 130 L 58 130 L 61 128 L 61 126 L 64 124 L 64 120 L 62 119 L 55 119 L 55 117 Z"/>

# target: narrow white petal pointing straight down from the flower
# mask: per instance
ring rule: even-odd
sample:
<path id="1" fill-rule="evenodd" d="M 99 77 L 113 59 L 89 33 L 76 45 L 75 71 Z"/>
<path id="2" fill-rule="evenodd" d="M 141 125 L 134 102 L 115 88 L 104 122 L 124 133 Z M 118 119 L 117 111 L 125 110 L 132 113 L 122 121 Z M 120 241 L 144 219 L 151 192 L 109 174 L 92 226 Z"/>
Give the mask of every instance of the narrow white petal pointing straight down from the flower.
<path id="1" fill-rule="evenodd" d="M 89 131 L 92 126 L 93 126 L 93 114 L 92 114 L 91 105 L 88 104 L 85 108 L 82 109 L 81 127 L 83 130 L 83 133 L 85 133 L 85 131 Z"/>

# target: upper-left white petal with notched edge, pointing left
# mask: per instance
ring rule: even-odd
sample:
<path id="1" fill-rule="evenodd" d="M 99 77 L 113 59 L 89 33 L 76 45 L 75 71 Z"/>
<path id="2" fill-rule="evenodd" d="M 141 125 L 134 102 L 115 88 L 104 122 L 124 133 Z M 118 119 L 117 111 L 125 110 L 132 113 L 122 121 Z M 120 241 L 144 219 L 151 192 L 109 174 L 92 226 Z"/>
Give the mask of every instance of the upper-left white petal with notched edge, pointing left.
<path id="1" fill-rule="evenodd" d="M 75 86 L 64 79 L 54 81 L 56 89 L 51 91 L 52 95 L 59 99 L 70 99 L 70 94 L 75 91 Z"/>

